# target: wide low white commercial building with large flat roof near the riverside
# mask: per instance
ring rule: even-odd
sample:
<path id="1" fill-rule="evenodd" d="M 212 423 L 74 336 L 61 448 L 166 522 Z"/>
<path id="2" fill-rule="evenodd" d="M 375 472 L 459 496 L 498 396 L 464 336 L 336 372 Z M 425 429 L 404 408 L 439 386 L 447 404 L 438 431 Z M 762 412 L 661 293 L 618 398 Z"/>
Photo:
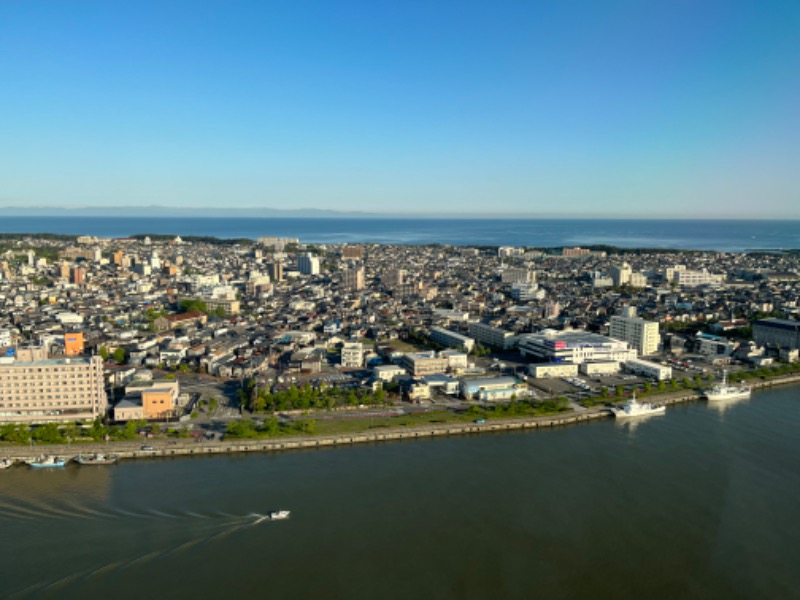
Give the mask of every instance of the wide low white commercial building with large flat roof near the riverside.
<path id="1" fill-rule="evenodd" d="M 519 350 L 539 362 L 625 361 L 636 358 L 628 342 L 587 331 L 545 329 L 519 337 Z"/>

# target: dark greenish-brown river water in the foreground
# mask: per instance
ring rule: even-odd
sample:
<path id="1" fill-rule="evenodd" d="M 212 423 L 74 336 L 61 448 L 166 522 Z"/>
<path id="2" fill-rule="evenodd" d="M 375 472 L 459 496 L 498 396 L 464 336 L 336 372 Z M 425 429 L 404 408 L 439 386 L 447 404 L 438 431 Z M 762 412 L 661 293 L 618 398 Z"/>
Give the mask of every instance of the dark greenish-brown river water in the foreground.
<path id="1" fill-rule="evenodd" d="M 0 597 L 797 598 L 799 430 L 793 386 L 625 425 L 15 467 Z"/>

